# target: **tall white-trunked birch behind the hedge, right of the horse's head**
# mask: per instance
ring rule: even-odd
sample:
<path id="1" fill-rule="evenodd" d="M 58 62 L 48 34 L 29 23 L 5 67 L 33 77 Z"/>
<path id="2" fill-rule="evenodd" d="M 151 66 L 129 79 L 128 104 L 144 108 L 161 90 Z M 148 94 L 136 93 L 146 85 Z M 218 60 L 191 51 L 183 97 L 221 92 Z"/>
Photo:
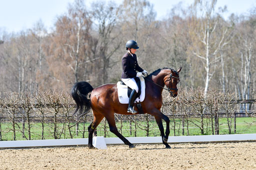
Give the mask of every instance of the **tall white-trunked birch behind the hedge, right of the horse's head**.
<path id="1" fill-rule="evenodd" d="M 228 28 L 218 29 L 220 28 L 221 17 L 214 13 L 216 2 L 217 0 L 195 0 L 194 3 L 195 10 L 199 9 L 202 13 L 202 16 L 196 20 L 198 22 L 195 31 L 197 38 L 194 39 L 193 43 L 200 45 L 195 46 L 193 53 L 202 59 L 205 69 L 204 95 L 206 95 L 209 81 L 215 73 L 216 63 L 220 59 L 217 53 L 230 41 Z M 221 33 L 217 35 L 216 32 Z"/>

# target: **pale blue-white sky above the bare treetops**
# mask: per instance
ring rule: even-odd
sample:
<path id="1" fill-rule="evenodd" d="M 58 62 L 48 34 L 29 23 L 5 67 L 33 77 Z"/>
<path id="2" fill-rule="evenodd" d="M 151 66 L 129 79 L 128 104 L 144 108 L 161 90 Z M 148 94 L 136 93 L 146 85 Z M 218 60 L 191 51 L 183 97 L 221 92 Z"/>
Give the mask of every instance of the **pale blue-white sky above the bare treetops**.
<path id="1" fill-rule="evenodd" d="M 32 28 L 41 19 L 47 29 L 53 26 L 57 15 L 67 11 L 68 3 L 74 0 L 0 0 L 0 31 L 18 32 Z M 89 5 L 93 0 L 85 0 Z M 122 0 L 114 0 L 120 3 Z M 184 5 L 191 4 L 194 0 L 148 0 L 154 4 L 157 19 L 164 17 L 179 1 Z M 216 7 L 227 5 L 224 17 L 230 13 L 247 13 L 256 6 L 256 0 L 218 0 Z"/>

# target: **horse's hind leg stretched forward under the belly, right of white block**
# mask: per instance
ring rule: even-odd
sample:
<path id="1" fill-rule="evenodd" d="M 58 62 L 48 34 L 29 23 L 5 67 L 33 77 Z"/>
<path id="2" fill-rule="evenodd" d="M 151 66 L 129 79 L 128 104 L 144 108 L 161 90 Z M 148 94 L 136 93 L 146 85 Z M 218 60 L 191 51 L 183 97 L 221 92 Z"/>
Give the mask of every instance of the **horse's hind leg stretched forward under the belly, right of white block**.
<path id="1" fill-rule="evenodd" d="M 107 122 L 108 122 L 108 126 L 109 126 L 109 130 L 110 132 L 112 132 L 114 135 L 116 135 L 120 140 L 122 140 L 122 142 L 125 145 L 128 145 L 129 148 L 135 148 L 135 146 L 133 144 L 131 144 L 127 139 L 125 139 L 118 131 L 117 128 L 115 126 L 115 121 L 114 121 L 114 114 L 107 114 L 105 116 Z"/>

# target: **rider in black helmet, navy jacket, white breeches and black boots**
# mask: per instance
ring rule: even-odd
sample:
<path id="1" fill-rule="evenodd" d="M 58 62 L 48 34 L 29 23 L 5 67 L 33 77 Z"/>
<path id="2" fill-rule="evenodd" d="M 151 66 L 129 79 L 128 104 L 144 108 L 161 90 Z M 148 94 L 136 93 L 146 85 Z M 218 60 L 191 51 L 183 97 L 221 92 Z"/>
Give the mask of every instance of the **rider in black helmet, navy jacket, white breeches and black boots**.
<path id="1" fill-rule="evenodd" d="M 138 92 L 138 86 L 134 80 L 134 77 L 140 77 L 143 74 L 147 74 L 146 70 L 143 70 L 138 66 L 136 49 L 138 49 L 137 43 L 134 40 L 128 40 L 125 44 L 127 52 L 122 57 L 122 76 L 121 80 L 129 88 L 132 89 L 129 97 L 128 109 L 127 112 L 137 113 L 132 108 L 135 96 Z M 138 71 L 138 72 L 136 72 Z"/>

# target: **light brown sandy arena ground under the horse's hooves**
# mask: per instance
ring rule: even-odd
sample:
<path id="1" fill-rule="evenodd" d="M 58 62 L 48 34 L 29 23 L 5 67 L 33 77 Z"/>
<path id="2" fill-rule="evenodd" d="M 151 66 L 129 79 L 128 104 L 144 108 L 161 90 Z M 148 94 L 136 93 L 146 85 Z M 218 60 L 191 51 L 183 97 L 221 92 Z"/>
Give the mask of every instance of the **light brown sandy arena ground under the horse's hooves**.
<path id="1" fill-rule="evenodd" d="M 256 142 L 0 149 L 0 170 L 256 170 Z"/>

